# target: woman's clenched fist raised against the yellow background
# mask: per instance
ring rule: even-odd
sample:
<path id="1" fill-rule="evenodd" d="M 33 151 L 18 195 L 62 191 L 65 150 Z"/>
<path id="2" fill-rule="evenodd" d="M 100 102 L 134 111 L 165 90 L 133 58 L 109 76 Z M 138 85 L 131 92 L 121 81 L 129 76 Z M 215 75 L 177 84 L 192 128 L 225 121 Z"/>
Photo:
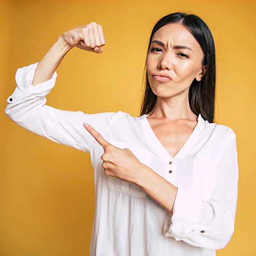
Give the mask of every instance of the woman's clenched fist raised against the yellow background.
<path id="1" fill-rule="evenodd" d="M 96 22 L 80 26 L 64 32 L 59 36 L 64 40 L 68 47 L 77 47 L 79 49 L 102 53 L 102 46 L 106 44 L 102 26 Z"/>

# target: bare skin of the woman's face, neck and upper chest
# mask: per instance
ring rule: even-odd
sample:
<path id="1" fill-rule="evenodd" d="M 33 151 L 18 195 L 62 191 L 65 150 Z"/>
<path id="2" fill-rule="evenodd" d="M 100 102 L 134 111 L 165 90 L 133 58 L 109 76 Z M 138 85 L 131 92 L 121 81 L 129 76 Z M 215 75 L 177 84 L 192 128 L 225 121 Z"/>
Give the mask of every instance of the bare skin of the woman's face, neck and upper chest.
<path id="1" fill-rule="evenodd" d="M 201 65 L 204 53 L 192 34 L 178 23 L 158 29 L 152 38 L 154 40 L 162 41 L 165 47 L 151 42 L 146 58 L 148 81 L 157 95 L 148 122 L 160 143 L 175 157 L 198 123 L 198 116 L 189 106 L 188 94 L 192 81 L 200 81 L 205 75 L 206 65 Z M 193 51 L 174 49 L 175 45 L 185 45 Z M 157 49 L 151 51 L 155 47 Z M 172 80 L 156 81 L 153 73 L 168 74 Z"/>

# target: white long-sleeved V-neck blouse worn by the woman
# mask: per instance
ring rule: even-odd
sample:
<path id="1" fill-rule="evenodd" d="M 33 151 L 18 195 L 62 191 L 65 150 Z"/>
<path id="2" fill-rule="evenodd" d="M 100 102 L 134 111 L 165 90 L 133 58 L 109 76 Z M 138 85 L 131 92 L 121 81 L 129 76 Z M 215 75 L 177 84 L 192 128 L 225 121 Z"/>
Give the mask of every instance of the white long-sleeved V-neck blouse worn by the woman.
<path id="1" fill-rule="evenodd" d="M 228 244 L 234 232 L 239 178 L 236 134 L 231 128 L 209 123 L 199 114 L 189 139 L 171 157 L 146 114 L 88 114 L 46 105 L 57 73 L 33 86 L 37 64 L 17 70 L 17 87 L 7 99 L 5 113 L 35 134 L 90 153 L 96 198 L 90 256 L 215 256 L 215 250 Z M 134 183 L 103 172 L 104 150 L 84 122 L 111 144 L 130 148 L 140 162 L 178 187 L 173 214 Z"/>

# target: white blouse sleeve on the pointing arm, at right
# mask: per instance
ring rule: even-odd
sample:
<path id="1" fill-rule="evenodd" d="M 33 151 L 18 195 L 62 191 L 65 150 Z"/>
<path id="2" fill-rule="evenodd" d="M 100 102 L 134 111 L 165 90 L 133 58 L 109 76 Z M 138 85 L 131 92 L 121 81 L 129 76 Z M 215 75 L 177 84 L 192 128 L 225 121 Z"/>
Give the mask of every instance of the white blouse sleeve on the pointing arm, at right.
<path id="1" fill-rule="evenodd" d="M 172 224 L 164 236 L 197 247 L 215 250 L 226 247 L 234 232 L 238 179 L 236 134 L 233 133 L 218 164 L 212 196 L 203 201 L 178 187 Z"/>

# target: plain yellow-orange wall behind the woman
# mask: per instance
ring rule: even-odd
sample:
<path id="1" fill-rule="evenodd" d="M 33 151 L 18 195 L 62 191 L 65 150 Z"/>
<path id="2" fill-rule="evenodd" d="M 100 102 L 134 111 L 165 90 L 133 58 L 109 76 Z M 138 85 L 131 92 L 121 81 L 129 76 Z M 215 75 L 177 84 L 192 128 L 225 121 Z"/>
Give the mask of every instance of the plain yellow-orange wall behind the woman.
<path id="1" fill-rule="evenodd" d="M 89 256 L 95 206 L 90 154 L 32 134 L 5 115 L 16 70 L 40 61 L 63 32 L 95 21 L 106 38 L 103 53 L 77 48 L 68 52 L 47 105 L 139 116 L 151 29 L 164 15 L 179 11 L 199 15 L 212 31 L 217 51 L 216 120 L 237 136 L 235 232 L 217 255 L 256 255 L 255 7 L 253 0 L 2 1 L 0 255 Z"/>

